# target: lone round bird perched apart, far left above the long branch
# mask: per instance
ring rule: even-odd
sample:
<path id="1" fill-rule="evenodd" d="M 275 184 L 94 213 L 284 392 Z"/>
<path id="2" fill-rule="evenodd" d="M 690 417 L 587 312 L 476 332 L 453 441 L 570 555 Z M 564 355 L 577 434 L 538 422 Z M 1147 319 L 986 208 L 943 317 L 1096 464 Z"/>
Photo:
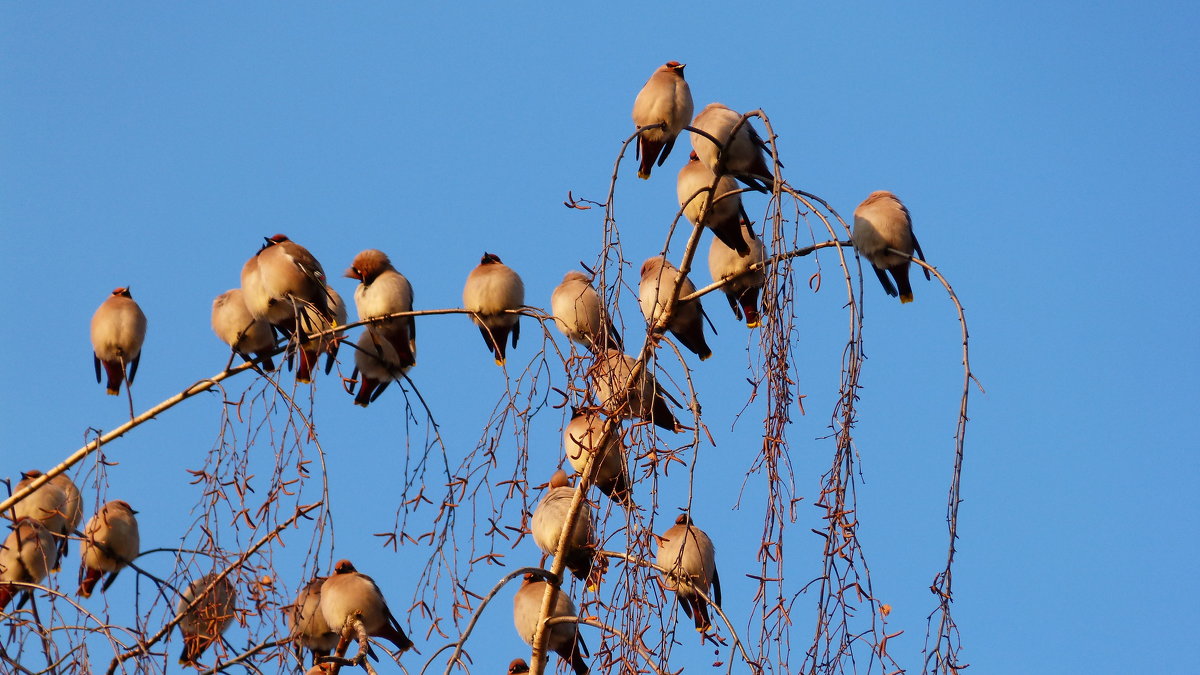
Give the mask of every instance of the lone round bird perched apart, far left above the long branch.
<path id="1" fill-rule="evenodd" d="M 142 342 L 146 338 L 146 315 L 133 301 L 130 288 L 122 286 L 100 304 L 91 316 L 91 348 L 96 366 L 96 382 L 103 366 L 108 375 L 106 392 L 115 396 L 121 382 L 133 384 L 142 360 Z"/>

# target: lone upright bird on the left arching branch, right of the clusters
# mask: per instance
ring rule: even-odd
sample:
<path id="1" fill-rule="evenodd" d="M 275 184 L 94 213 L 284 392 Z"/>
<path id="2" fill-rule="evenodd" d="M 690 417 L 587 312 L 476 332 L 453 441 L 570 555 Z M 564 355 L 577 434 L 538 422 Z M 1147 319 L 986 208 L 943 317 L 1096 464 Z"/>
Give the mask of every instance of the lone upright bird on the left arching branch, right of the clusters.
<path id="1" fill-rule="evenodd" d="M 524 305 L 524 283 L 517 273 L 500 262 L 499 256 L 485 252 L 479 267 L 470 270 L 462 288 L 462 305 L 472 312 L 484 342 L 496 357 L 496 365 L 504 365 L 504 344 L 512 333 L 512 347 L 521 336 L 520 315 L 506 310 Z"/>

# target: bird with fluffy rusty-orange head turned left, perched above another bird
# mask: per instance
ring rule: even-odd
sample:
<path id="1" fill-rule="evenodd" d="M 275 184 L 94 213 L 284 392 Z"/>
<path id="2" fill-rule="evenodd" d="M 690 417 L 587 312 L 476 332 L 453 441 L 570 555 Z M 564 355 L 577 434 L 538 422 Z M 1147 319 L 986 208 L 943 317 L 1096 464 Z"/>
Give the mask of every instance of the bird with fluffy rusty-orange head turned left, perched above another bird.
<path id="1" fill-rule="evenodd" d="M 359 321 L 413 311 L 413 285 L 396 271 L 386 253 L 367 249 L 354 256 L 346 276 L 361 283 L 354 289 Z M 367 330 L 386 340 L 396 351 L 400 365 L 416 365 L 416 319 L 410 316 L 389 318 L 367 325 Z"/>

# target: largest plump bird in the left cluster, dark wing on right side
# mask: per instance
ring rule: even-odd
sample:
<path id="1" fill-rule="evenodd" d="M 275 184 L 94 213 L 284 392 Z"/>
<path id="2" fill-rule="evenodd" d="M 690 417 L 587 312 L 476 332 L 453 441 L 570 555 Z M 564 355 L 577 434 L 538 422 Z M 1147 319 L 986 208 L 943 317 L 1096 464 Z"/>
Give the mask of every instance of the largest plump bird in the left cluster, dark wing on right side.
<path id="1" fill-rule="evenodd" d="M 325 269 L 307 249 L 276 234 L 241 268 L 242 298 L 250 313 L 296 340 L 328 330 L 334 321 Z M 312 311 L 307 311 L 311 307 Z M 314 352 L 298 350 L 298 382 L 312 382 Z"/>

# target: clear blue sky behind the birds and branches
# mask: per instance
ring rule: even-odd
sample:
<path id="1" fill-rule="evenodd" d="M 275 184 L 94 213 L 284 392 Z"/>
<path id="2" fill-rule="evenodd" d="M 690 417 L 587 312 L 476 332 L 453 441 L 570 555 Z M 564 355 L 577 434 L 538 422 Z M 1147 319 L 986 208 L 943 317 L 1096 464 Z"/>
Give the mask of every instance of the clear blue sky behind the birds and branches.
<path id="1" fill-rule="evenodd" d="M 1186 234 L 1194 216 L 1171 204 L 1200 185 L 1198 19 L 1186 2 L 5 4 L 0 283 L 12 328 L 0 338 L 0 474 L 47 467 L 126 414 L 124 398 L 92 381 L 88 342 L 92 311 L 116 286 L 132 286 L 150 322 L 138 410 L 220 371 L 227 350 L 209 330 L 210 303 L 238 285 L 264 235 L 307 246 L 347 297 L 354 286 L 340 271 L 359 250 L 382 249 L 420 309 L 457 306 L 488 250 L 523 276 L 529 304 L 547 306 L 562 274 L 600 245 L 598 211 L 563 199 L 604 198 L 635 94 L 676 59 L 697 109 L 722 101 L 768 113 L 792 185 L 846 216 L 872 190 L 900 195 L 966 305 L 988 390 L 972 400 L 955 579 L 971 673 L 1188 671 L 1200 279 Z M 661 246 L 683 150 L 649 181 L 623 168 L 617 216 L 635 264 Z M 762 199 L 748 201 L 761 214 Z M 694 277 L 708 280 L 703 267 Z M 860 537 L 876 595 L 894 608 L 889 626 L 905 629 L 889 652 L 917 671 L 946 548 L 959 335 L 932 283 L 918 281 L 905 306 L 874 279 L 865 291 Z M 810 503 L 833 449 L 816 438 L 834 404 L 844 297 L 827 282 L 797 298 L 808 416 L 793 424 L 792 456 Z M 632 339 L 640 318 L 624 303 Z M 745 330 L 722 299 L 708 307 L 720 335 L 695 371 L 718 446 L 701 450 L 694 513 L 744 626 L 761 483 L 733 506 L 758 435 L 746 420 L 728 430 L 749 393 Z M 539 344 L 527 322 L 512 362 Z M 504 392 L 502 372 L 458 316 L 421 321 L 419 359 L 413 378 L 457 464 Z M 228 387 L 233 399 L 258 390 L 246 376 Z M 407 609 L 428 548 L 392 552 L 372 534 L 391 530 L 406 448 L 415 453 L 426 429 L 406 425 L 395 389 L 365 411 L 332 377 L 313 396 L 336 521 L 319 566 L 352 557 Z M 142 512 L 143 548 L 180 545 L 200 500 L 185 470 L 218 443 L 220 416 L 220 399 L 205 395 L 107 448 L 107 498 Z M 545 411 L 532 431 L 534 483 L 554 467 L 560 422 Z M 234 429 L 244 441 L 246 425 Z M 253 453 L 268 453 L 259 442 Z M 498 454 L 515 458 L 511 440 Z M 263 495 L 266 473 L 256 480 Z M 686 486 L 671 489 L 682 506 Z M 802 508 L 790 528 L 793 590 L 818 574 L 818 515 Z M 304 581 L 308 532 L 290 531 L 275 561 L 288 589 Z M 528 539 L 506 552 L 510 569 L 536 562 Z M 77 555 L 58 579 L 67 591 Z M 169 556 L 144 561 L 172 572 Z M 296 578 L 283 579 L 289 569 Z M 472 591 L 496 575 L 481 567 Z M 133 592 L 132 574 L 109 591 L 115 620 L 127 620 Z M 475 671 L 526 653 L 510 597 L 470 645 Z M 793 665 L 812 602 L 800 596 L 793 609 Z M 442 644 L 418 614 L 403 621 L 426 655 Z M 716 671 L 712 647 L 686 626 L 680 635 L 672 667 Z M 229 637 L 246 640 L 240 628 Z M 169 649 L 174 657 L 178 638 Z M 107 662 L 107 647 L 92 655 Z M 422 662 L 404 657 L 410 670 Z"/>

